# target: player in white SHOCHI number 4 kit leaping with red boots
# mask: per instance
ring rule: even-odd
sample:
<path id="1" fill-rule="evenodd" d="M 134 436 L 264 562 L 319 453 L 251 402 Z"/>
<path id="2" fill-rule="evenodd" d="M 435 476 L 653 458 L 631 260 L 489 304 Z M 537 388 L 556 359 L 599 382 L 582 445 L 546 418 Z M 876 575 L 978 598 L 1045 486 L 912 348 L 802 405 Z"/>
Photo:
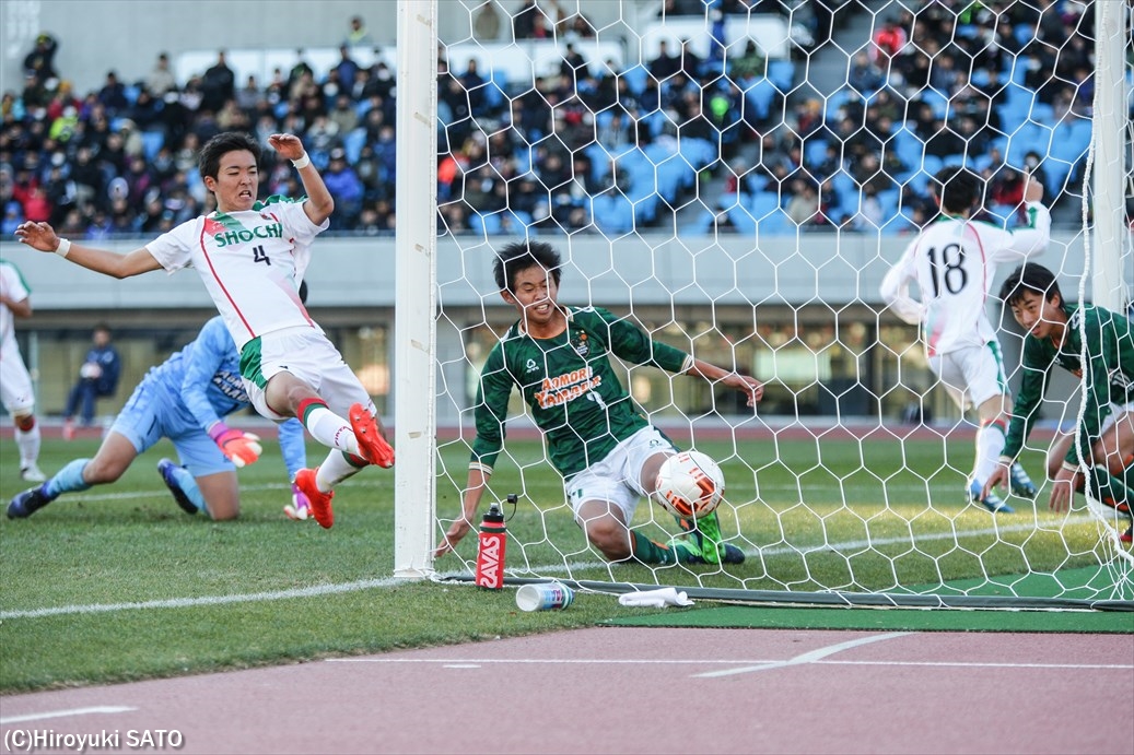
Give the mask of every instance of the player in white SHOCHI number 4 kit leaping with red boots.
<path id="1" fill-rule="evenodd" d="M 260 145 L 246 134 L 225 133 L 201 149 L 201 177 L 217 198 L 209 215 L 125 255 L 60 239 L 48 223 L 22 223 L 16 236 L 116 278 L 196 269 L 240 351 L 252 405 L 277 422 L 298 417 L 332 449 L 318 469 L 303 469 L 295 480 L 315 520 L 330 527 L 335 485 L 367 464 L 392 466 L 393 449 L 366 389 L 299 300 L 311 244 L 328 227 L 335 201 L 297 136 L 273 134 L 268 142 L 299 171 L 306 198 L 257 201 Z M 237 466 L 260 455 L 254 436 L 223 422 L 209 434 Z"/>

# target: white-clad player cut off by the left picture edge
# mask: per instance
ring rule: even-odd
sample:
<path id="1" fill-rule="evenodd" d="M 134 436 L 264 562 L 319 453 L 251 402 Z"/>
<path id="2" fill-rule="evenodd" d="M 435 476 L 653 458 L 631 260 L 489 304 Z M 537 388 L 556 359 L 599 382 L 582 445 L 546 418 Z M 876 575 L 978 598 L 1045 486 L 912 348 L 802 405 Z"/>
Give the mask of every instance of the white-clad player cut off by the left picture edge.
<path id="1" fill-rule="evenodd" d="M 16 265 L 0 260 L 0 402 L 16 425 L 19 476 L 43 482 L 40 472 L 40 425 L 35 422 L 35 389 L 16 342 L 16 317 L 32 316 L 32 289 Z"/>

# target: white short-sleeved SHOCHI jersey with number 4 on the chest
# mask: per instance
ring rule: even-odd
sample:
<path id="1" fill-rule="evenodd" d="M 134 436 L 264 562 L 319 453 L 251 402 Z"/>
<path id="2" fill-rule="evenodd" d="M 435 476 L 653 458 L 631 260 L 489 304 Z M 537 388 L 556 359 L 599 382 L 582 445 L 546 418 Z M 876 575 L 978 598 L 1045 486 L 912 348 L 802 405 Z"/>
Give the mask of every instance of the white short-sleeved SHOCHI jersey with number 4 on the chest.
<path id="1" fill-rule="evenodd" d="M 303 200 L 271 196 L 244 212 L 213 212 L 186 221 L 146 245 L 162 268 L 195 268 L 239 351 L 253 338 L 287 328 L 314 328 L 299 302 L 299 281 L 316 226 Z"/>

